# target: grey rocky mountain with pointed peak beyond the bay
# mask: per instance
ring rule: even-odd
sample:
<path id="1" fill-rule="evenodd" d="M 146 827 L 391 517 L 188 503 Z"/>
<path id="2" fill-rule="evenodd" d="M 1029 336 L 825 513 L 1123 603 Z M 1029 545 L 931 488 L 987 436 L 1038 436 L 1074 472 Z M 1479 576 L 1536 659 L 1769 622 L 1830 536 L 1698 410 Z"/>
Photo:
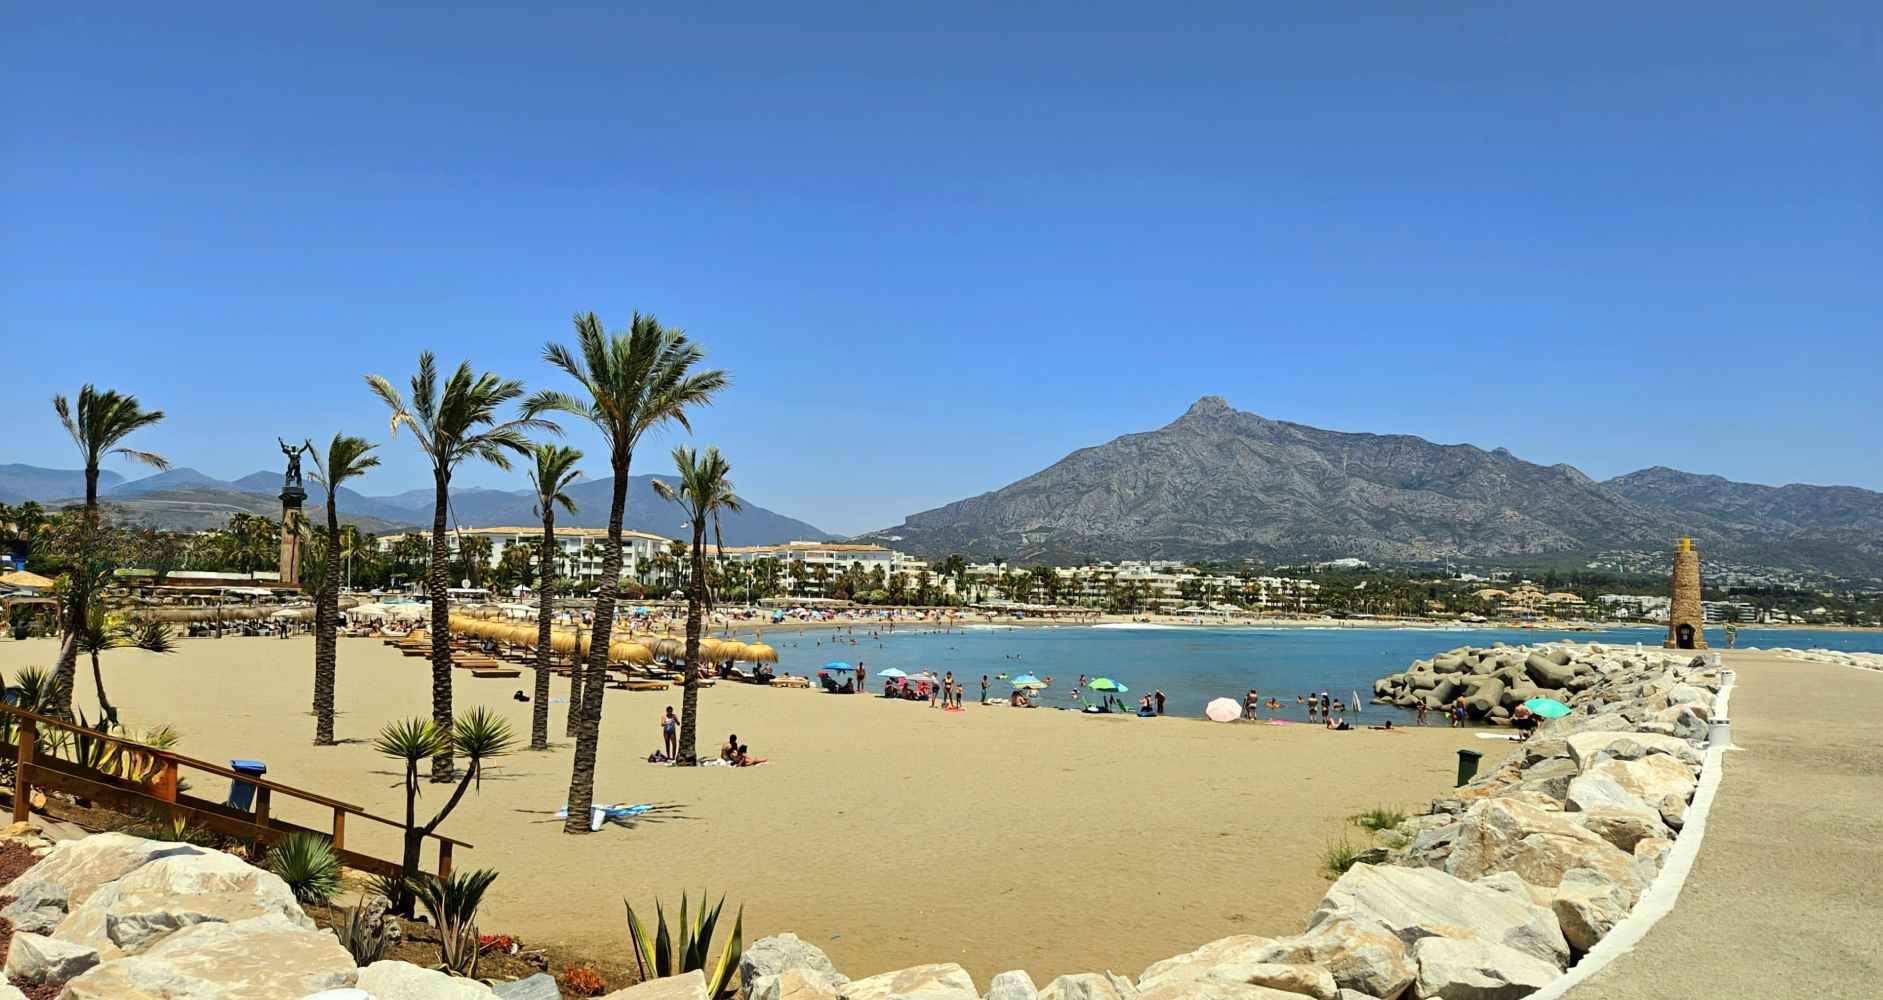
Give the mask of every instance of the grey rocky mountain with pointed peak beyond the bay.
<path id="1" fill-rule="evenodd" d="M 1326 431 L 1198 399 L 1019 482 L 864 535 L 925 556 L 1555 563 L 1608 550 L 1883 574 L 1883 493 L 1674 469 L 1597 482 L 1505 448 Z"/>

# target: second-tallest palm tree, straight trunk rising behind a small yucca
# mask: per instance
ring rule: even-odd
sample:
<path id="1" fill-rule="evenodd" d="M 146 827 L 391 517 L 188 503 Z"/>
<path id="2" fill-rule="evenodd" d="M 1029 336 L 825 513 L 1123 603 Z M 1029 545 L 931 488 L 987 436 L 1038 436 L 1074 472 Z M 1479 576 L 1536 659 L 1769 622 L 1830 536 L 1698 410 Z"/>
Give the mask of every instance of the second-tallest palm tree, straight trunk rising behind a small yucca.
<path id="1" fill-rule="evenodd" d="M 490 371 L 473 375 L 471 362 L 463 362 L 441 388 L 439 369 L 429 350 L 418 356 L 410 403 L 380 375 L 367 375 L 365 384 L 392 411 L 392 435 L 399 435 L 401 424 L 412 427 L 412 439 L 431 461 L 435 499 L 431 505 L 431 569 L 426 574 L 426 588 L 431 591 L 431 721 L 443 733 L 452 727 L 452 633 L 444 593 L 450 586 L 444 510 L 450 507 L 452 473 L 467 458 L 508 469 L 508 454 L 529 454 L 529 437 L 523 431 L 559 431 L 559 427 L 527 414 L 497 422 L 497 407 L 523 395 L 523 382 L 499 379 Z M 452 770 L 452 746 L 443 742 L 431 759 L 431 780 L 450 782 Z M 587 814 L 584 812 L 584 815 Z"/>

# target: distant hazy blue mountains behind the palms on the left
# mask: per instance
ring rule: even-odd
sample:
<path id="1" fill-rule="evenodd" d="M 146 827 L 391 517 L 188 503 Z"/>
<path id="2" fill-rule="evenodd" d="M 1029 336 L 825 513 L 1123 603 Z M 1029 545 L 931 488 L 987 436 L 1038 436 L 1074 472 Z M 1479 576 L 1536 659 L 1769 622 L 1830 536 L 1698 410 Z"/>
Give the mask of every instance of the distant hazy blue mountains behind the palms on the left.
<path id="1" fill-rule="evenodd" d="M 655 476 L 633 476 L 627 490 L 625 525 L 655 535 L 682 535 L 680 508 L 653 492 Z M 667 478 L 667 476 L 661 476 Z M 196 469 L 177 467 L 143 478 L 102 471 L 100 501 L 119 516 L 177 531 L 220 527 L 233 512 L 281 516 L 281 473 L 250 473 L 235 480 L 220 480 Z M 608 501 L 614 478 L 576 480 L 571 497 L 576 512 L 557 512 L 563 527 L 606 527 Z M 75 503 L 85 492 L 85 473 L 77 469 L 41 469 L 36 465 L 0 465 L 0 503 L 40 501 L 45 507 Z M 313 514 L 326 503 L 326 493 L 313 478 L 307 480 L 307 510 Z M 405 490 L 392 495 L 365 495 L 346 486 L 339 490 L 341 518 L 365 531 L 384 533 L 401 527 L 431 525 L 431 490 Z M 540 524 L 527 490 L 452 490 L 452 516 L 463 527 L 523 527 Z M 798 539 L 829 540 L 834 535 L 797 518 L 787 518 L 764 507 L 748 503 L 746 510 L 721 520 L 725 544 L 778 544 Z"/>

